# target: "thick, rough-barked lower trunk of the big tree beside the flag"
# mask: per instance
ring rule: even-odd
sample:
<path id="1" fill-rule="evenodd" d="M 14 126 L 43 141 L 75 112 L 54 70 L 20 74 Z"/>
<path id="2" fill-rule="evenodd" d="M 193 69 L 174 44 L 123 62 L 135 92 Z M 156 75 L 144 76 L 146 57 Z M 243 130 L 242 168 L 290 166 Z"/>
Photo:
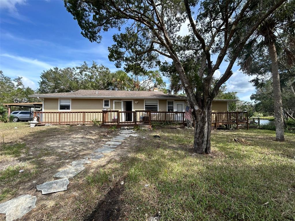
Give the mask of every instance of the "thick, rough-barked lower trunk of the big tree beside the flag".
<path id="1" fill-rule="evenodd" d="M 211 153 L 211 104 L 194 111 L 194 152 Z"/>

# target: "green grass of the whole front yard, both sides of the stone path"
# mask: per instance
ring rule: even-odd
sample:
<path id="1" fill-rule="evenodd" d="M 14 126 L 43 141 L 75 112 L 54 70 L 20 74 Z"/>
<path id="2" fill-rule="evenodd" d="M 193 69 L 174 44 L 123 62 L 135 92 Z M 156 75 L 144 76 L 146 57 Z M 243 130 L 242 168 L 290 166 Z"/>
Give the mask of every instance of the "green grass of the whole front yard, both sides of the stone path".
<path id="1" fill-rule="evenodd" d="M 45 153 L 39 146 L 44 146 L 46 137 L 63 133 L 73 139 L 82 130 L 91 132 L 91 128 L 0 124 L 6 143 L 0 162 L 22 161 L 0 171 L 0 201 L 19 195 L 23 184 L 32 183 L 42 175 L 40 171 L 60 161 L 52 150 L 46 152 L 46 158 L 55 156 L 55 161 L 44 161 Z M 214 130 L 212 154 L 199 155 L 192 149 L 193 130 L 137 133 L 146 138 L 127 141 L 134 143 L 128 148 L 129 155 L 112 159 L 105 166 L 86 168 L 71 180 L 67 191 L 46 195 L 48 201 L 40 198 L 28 220 L 41 216 L 43 220 L 83 220 L 122 180 L 120 220 L 146 220 L 158 211 L 165 221 L 295 220 L 295 134 L 286 132 L 286 141 L 277 142 L 275 131 L 270 130 Z M 244 138 L 250 145 L 236 143 L 235 137 Z M 40 153 L 28 150 L 32 139 L 38 139 Z M 39 145 L 39 141 L 43 143 Z M 30 151 L 34 155 L 30 156 Z M 20 169 L 24 172 L 19 173 Z M 30 185 L 35 189 L 35 184 Z"/>

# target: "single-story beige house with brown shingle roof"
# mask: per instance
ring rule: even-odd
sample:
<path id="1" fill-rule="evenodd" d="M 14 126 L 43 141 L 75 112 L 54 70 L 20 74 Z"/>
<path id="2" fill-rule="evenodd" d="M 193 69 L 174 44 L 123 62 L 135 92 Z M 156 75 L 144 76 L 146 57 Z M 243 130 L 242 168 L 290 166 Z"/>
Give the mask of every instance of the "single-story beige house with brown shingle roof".
<path id="1" fill-rule="evenodd" d="M 78 90 L 65 93 L 34 94 L 43 101 L 36 112 L 44 123 L 91 122 L 137 123 L 148 121 L 184 122 L 186 96 L 162 91 Z M 214 99 L 213 112 L 228 112 L 235 100 Z M 103 116 L 103 112 L 105 113 Z"/>

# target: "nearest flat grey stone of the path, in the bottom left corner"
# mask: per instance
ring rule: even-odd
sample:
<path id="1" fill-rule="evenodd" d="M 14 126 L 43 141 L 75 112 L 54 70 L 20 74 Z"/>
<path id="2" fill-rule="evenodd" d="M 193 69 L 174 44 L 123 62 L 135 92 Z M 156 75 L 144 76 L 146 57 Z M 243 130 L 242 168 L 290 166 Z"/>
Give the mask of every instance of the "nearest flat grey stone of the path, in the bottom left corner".
<path id="1" fill-rule="evenodd" d="M 0 204 L 0 213 L 5 213 L 6 221 L 23 217 L 36 207 L 37 197 L 24 194 Z"/>

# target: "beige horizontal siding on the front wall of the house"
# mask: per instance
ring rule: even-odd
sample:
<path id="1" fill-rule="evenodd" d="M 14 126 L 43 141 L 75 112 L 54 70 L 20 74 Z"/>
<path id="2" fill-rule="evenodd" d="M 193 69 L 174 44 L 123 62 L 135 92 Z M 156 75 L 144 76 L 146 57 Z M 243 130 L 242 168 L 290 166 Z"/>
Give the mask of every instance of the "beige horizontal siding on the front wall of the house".
<path id="1" fill-rule="evenodd" d="M 58 98 L 45 98 L 44 111 L 58 111 Z M 110 99 L 109 110 L 121 110 L 121 102 Z M 174 102 L 184 102 L 174 100 Z M 115 105 L 115 106 L 114 106 Z M 71 99 L 71 111 L 101 111 L 103 109 L 103 99 Z M 144 110 L 144 99 L 133 99 L 133 110 Z M 167 100 L 159 100 L 159 111 L 167 111 Z M 226 101 L 213 101 L 213 112 L 227 112 Z"/>

